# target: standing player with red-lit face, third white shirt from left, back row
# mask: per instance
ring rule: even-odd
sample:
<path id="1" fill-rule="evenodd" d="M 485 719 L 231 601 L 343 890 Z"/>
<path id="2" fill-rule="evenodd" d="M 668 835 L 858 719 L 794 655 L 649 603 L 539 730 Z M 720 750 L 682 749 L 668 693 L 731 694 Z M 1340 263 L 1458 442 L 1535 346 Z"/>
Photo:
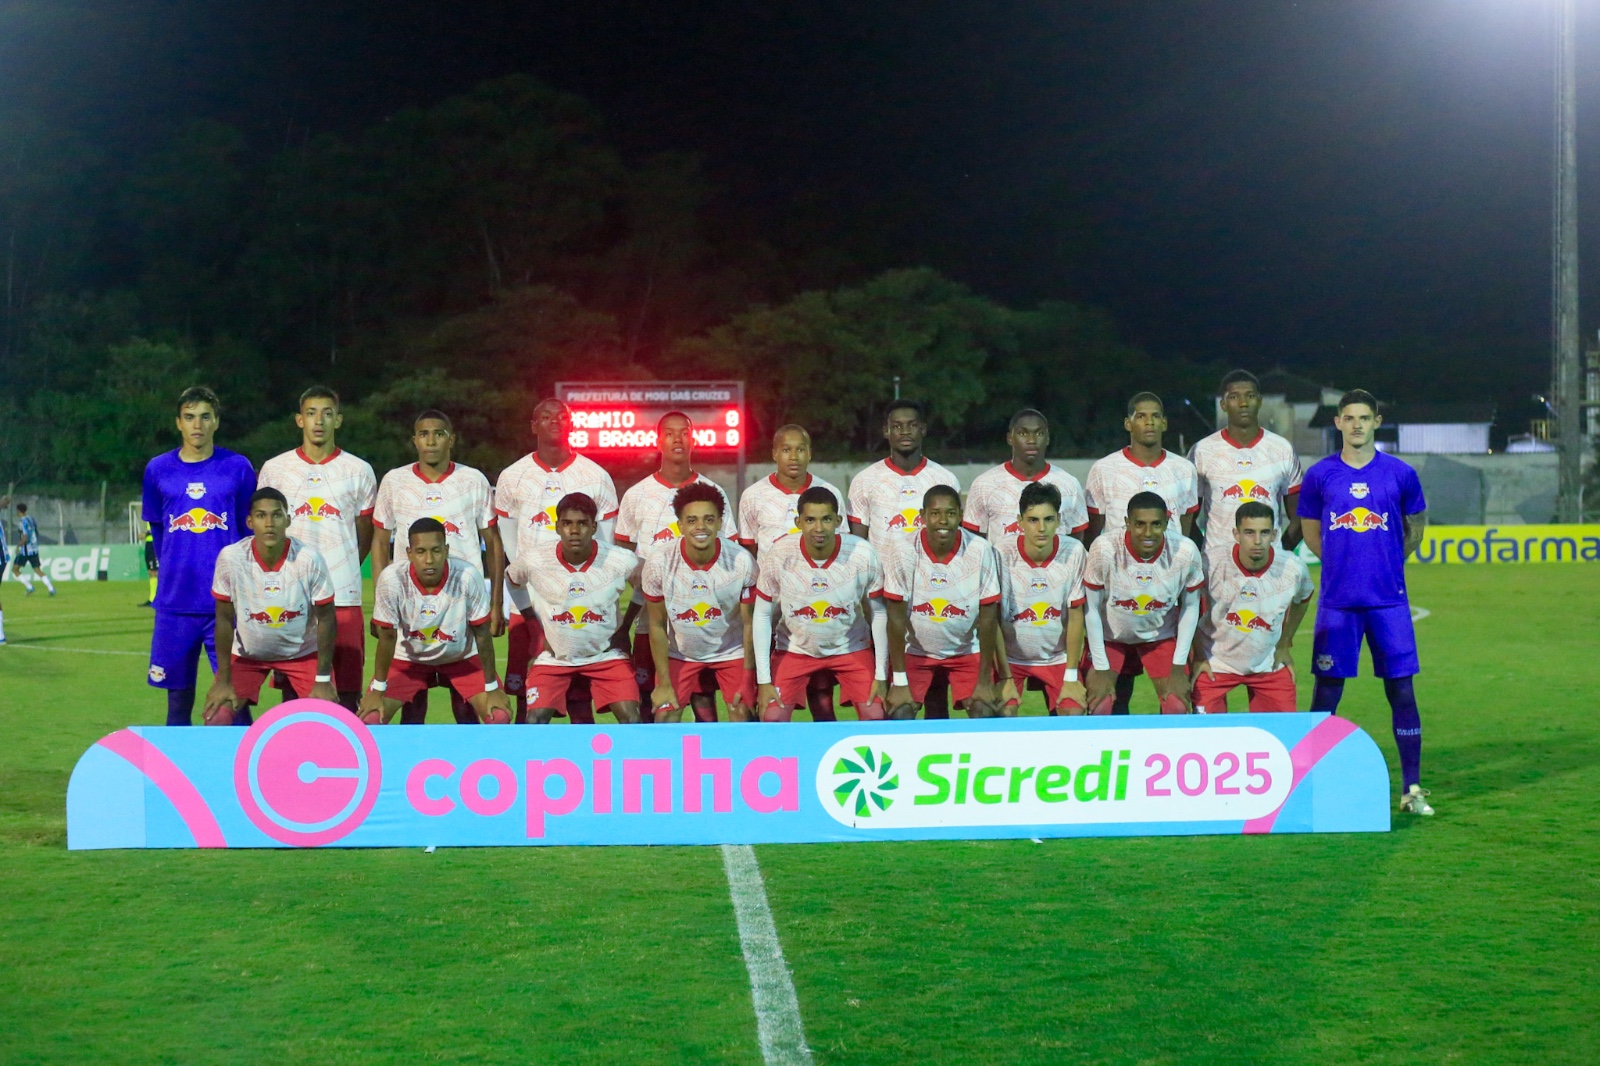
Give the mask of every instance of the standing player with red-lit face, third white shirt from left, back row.
<path id="1" fill-rule="evenodd" d="M 573 431 L 573 413 L 560 400 L 544 400 L 533 408 L 534 450 L 517 459 L 494 482 L 494 514 L 501 519 L 501 543 L 506 547 L 506 565 L 517 554 L 552 544 L 555 535 L 555 504 L 568 493 L 582 493 L 595 501 L 600 514 L 600 530 L 595 536 L 610 544 L 616 527 L 616 483 L 598 463 L 586 459 L 568 447 Z M 506 691 L 517 699 L 517 720 L 528 717 L 526 677 L 528 663 L 539 648 L 534 639 L 536 626 L 528 626 L 518 611 L 510 615 L 510 637 L 506 647 Z M 496 634 L 499 635 L 499 634 Z M 573 722 L 594 725 L 589 703 L 589 682 L 573 679 L 566 690 L 566 714 Z"/>

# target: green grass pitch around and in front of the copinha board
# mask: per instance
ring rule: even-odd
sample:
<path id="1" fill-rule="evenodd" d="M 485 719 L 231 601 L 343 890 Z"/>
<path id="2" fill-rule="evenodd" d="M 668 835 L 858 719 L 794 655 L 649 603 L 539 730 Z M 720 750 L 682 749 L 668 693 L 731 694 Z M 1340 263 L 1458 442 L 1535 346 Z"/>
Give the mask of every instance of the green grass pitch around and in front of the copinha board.
<path id="1" fill-rule="evenodd" d="M 760 1060 L 715 848 L 67 853 L 78 754 L 162 719 L 149 611 L 0 592 L 0 1061 Z M 816 1060 L 1600 1061 L 1600 571 L 1413 597 L 1427 823 L 758 848 Z"/>

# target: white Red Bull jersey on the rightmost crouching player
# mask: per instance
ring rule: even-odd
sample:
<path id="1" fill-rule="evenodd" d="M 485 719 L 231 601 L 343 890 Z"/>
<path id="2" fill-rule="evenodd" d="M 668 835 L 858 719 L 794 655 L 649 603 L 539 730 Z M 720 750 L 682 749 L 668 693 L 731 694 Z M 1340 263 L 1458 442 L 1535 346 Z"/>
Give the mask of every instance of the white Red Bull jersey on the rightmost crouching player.
<path id="1" fill-rule="evenodd" d="M 1304 603 L 1317 586 L 1294 552 L 1270 549 L 1267 565 L 1245 570 L 1234 554 L 1213 562 L 1206 578 L 1211 610 L 1200 619 L 1198 651 L 1216 674 L 1267 674 L 1291 603 Z"/>

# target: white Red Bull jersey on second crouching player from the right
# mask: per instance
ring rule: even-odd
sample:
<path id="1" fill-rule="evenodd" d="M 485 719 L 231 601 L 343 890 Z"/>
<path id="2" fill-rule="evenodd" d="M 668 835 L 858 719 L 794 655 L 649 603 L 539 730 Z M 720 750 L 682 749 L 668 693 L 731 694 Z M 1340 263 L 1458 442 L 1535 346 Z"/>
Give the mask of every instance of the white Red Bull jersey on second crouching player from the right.
<path id="1" fill-rule="evenodd" d="M 1155 559 L 1139 559 L 1126 531 L 1094 538 L 1083 587 L 1106 591 L 1106 640 L 1152 643 L 1178 635 L 1179 600 L 1205 587 L 1200 549 L 1168 533 Z"/>

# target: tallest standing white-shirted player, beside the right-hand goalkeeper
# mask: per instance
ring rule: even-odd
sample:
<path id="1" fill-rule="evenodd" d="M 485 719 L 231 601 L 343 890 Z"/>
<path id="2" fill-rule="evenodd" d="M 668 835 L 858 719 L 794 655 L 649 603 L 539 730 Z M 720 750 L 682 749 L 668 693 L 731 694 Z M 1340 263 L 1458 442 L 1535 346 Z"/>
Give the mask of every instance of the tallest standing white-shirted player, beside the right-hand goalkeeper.
<path id="1" fill-rule="evenodd" d="M 1261 426 L 1261 383 L 1248 370 L 1234 370 L 1219 389 L 1227 426 L 1202 437 L 1189 450 L 1200 485 L 1200 525 L 1205 527 L 1205 563 L 1227 562 L 1234 552 L 1234 511 L 1243 503 L 1272 509 L 1272 520 L 1283 530 L 1283 547 L 1301 541 L 1294 522 L 1301 485 L 1294 445 Z"/>

